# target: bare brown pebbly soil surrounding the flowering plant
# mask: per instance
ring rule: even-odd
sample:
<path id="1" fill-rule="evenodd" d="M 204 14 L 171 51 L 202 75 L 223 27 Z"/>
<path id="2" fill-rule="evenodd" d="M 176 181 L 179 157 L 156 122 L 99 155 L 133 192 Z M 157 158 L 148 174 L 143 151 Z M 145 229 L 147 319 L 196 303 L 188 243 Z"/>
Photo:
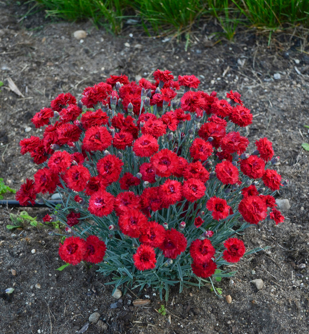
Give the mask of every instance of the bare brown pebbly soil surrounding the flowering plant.
<path id="1" fill-rule="evenodd" d="M 231 304 L 207 288 L 179 294 L 176 287 L 167 303 L 151 290 L 134 291 L 140 298 L 150 295 L 151 300 L 149 306 L 136 308 L 131 304 L 136 296 L 129 291 L 117 308 L 111 308 L 116 300 L 111 296 L 113 287 L 104 285 L 109 277 L 82 265 L 55 271 L 63 264 L 57 257 L 58 238 L 48 235 L 48 226 L 7 230 L 9 212 L 18 209 L 2 207 L 1 332 L 77 333 L 89 322 L 91 313 L 99 312 L 99 323 L 90 324 L 86 333 L 308 333 L 309 153 L 301 148 L 302 142 L 309 142 L 303 127 L 309 125 L 307 37 L 277 35 L 267 47 L 264 36 L 243 32 L 234 43 L 221 40 L 208 47 L 205 36 L 218 29 L 208 22 L 191 34 L 185 51 L 182 39 L 178 44 L 176 39 L 163 42 L 165 37 L 149 38 L 134 27 L 115 37 L 88 22 L 45 21 L 43 13 L 20 24 L 18 14 L 25 13 L 27 7 L 12 3 L 0 1 L 0 80 L 7 87 L 6 78 L 11 77 L 24 98 L 2 87 L 0 177 L 6 184 L 18 189 L 36 171 L 29 157 L 20 155 L 18 143 L 39 134 L 30 118 L 51 99 L 67 91 L 80 97 L 86 86 L 110 74 L 125 73 L 136 79 L 139 75 L 151 77 L 160 68 L 172 70 L 175 76 L 195 74 L 201 89 L 216 90 L 222 97 L 230 89 L 242 94 L 255 115 L 249 139 L 254 142 L 268 136 L 273 141 L 275 153 L 280 155 L 276 169 L 290 180 L 277 197 L 289 199 L 291 208 L 283 211 L 284 223 L 265 222 L 246 231 L 243 239 L 248 249 L 259 245 L 270 249 L 242 259 L 233 280 L 217 283 L 223 296 L 231 295 Z M 72 36 L 80 29 L 88 32 L 83 43 Z M 281 78 L 275 80 L 274 73 Z M 25 133 L 26 127 L 31 127 L 29 133 Z M 48 213 L 37 208 L 28 212 L 38 219 Z M 33 248 L 35 254 L 31 254 Z M 306 264 L 304 269 L 298 269 L 301 263 Z M 250 283 L 256 278 L 264 281 L 261 291 Z M 35 288 L 37 283 L 40 289 Z M 12 286 L 12 295 L 3 293 Z M 166 316 L 155 310 L 161 304 L 166 306 Z"/>

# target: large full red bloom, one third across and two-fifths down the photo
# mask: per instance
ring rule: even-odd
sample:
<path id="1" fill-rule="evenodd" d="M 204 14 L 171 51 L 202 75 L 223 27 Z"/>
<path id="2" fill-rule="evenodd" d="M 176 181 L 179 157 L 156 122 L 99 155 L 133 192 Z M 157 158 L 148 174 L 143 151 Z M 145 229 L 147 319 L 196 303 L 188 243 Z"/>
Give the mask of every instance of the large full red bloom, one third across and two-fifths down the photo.
<path id="1" fill-rule="evenodd" d="M 105 127 L 93 126 L 86 130 L 83 147 L 86 151 L 104 151 L 112 144 L 113 137 Z"/>

